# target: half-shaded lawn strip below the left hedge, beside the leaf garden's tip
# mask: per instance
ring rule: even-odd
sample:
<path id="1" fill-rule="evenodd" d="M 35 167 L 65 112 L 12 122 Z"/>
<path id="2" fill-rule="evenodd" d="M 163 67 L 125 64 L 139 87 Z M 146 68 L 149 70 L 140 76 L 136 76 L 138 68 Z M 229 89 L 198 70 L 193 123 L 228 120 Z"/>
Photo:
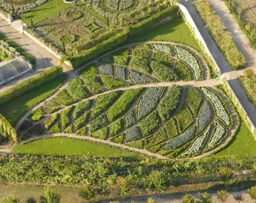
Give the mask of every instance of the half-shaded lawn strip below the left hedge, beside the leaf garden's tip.
<path id="1" fill-rule="evenodd" d="M 26 111 L 55 92 L 57 87 L 63 83 L 64 79 L 64 75 L 58 76 L 19 97 L 13 98 L 9 102 L 1 105 L 0 113 L 12 124 L 12 126 L 15 126 Z"/>

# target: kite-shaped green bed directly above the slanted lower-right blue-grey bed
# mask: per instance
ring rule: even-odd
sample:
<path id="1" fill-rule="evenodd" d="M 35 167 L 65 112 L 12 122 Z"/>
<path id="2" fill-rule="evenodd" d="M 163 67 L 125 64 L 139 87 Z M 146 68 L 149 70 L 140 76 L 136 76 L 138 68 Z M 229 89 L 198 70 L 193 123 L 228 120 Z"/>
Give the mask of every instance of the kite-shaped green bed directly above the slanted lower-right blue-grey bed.
<path id="1" fill-rule="evenodd" d="M 174 116 L 177 120 L 180 133 L 183 132 L 190 124 L 193 123 L 194 119 L 187 106 L 183 106 L 180 112 Z"/>

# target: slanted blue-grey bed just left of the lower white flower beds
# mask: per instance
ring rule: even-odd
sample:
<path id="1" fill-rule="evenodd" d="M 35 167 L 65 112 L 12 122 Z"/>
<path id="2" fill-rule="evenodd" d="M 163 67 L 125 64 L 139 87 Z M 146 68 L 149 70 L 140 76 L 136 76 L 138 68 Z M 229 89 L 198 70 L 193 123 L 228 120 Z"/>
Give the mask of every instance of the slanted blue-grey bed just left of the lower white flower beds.
<path id="1" fill-rule="evenodd" d="M 180 136 L 173 138 L 165 145 L 165 149 L 176 149 L 179 146 L 185 144 L 188 140 L 190 140 L 193 137 L 194 130 L 195 128 L 191 127 L 190 129 L 182 133 Z"/>

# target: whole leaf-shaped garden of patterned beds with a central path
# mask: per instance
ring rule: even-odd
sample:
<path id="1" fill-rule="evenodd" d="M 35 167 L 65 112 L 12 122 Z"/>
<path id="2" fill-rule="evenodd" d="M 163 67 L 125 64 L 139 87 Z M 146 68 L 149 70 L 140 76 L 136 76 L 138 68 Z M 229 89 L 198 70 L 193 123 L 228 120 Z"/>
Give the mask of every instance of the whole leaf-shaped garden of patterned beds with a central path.
<path id="1" fill-rule="evenodd" d="M 28 111 L 20 138 L 72 134 L 166 158 L 207 154 L 236 126 L 222 93 L 190 85 L 208 77 L 204 67 L 197 51 L 177 43 L 107 53 Z"/>

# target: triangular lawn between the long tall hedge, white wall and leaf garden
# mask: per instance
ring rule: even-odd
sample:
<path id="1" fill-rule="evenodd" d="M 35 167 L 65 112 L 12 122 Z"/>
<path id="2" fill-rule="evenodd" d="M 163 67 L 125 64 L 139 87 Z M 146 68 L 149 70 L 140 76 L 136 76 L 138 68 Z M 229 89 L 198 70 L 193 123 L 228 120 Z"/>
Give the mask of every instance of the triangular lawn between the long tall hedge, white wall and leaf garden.
<path id="1" fill-rule="evenodd" d="M 147 40 L 178 41 L 201 51 L 196 39 L 183 20 L 171 20 L 156 26 L 152 31 L 128 39 L 128 43 Z"/>

